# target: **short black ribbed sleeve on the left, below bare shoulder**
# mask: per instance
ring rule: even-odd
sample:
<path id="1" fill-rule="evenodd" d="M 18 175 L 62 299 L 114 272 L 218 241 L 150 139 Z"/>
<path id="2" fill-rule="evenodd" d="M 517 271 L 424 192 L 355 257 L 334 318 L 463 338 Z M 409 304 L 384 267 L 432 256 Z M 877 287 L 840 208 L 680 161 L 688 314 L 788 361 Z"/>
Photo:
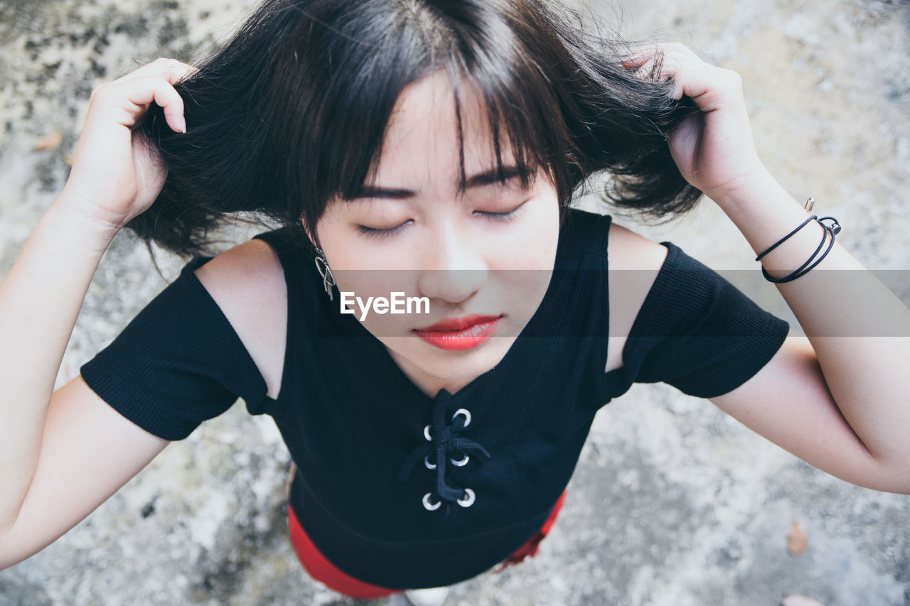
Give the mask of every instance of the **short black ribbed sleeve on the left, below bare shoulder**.
<path id="1" fill-rule="evenodd" d="M 244 399 L 263 412 L 267 387 L 247 348 L 193 273 L 197 257 L 80 368 L 89 388 L 156 436 L 184 439 Z"/>

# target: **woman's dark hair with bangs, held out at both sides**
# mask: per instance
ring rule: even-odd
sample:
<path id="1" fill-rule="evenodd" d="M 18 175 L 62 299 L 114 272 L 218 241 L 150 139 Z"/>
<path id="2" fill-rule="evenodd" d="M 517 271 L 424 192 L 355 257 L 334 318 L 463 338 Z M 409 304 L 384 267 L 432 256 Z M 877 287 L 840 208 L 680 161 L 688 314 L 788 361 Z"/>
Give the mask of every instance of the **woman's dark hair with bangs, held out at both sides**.
<path id="1" fill-rule="evenodd" d="M 169 173 L 126 227 L 188 256 L 205 254 L 209 231 L 233 213 L 315 226 L 329 200 L 375 174 L 402 89 L 438 70 L 450 76 L 459 123 L 460 91 L 479 91 L 500 170 L 508 137 L 525 183 L 539 168 L 550 175 L 561 218 L 602 170 L 615 176 L 604 192 L 613 204 L 680 214 L 701 192 L 664 133 L 693 104 L 672 99 L 659 64 L 636 76 L 622 65 L 628 55 L 544 0 L 265 0 L 177 84 L 187 134 L 149 110 L 142 130 Z"/>

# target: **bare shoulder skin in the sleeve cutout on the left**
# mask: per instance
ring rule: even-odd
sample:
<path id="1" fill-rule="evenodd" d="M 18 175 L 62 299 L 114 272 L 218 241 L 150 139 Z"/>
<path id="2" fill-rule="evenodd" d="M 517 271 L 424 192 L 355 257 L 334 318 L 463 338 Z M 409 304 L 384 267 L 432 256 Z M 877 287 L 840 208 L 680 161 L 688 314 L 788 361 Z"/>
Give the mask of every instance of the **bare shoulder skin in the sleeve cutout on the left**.
<path id="1" fill-rule="evenodd" d="M 288 329 L 288 286 L 278 255 L 263 240 L 230 248 L 196 276 L 230 322 L 277 398 Z"/>

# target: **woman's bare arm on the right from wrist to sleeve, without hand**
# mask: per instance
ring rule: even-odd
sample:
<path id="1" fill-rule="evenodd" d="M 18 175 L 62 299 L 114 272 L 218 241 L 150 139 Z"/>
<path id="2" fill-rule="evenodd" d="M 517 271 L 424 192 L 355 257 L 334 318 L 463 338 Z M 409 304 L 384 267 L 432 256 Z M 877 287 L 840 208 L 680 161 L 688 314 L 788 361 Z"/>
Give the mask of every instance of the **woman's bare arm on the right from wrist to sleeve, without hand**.
<path id="1" fill-rule="evenodd" d="M 755 196 L 727 212 L 762 251 L 806 212 L 773 182 Z M 768 255 L 773 277 L 812 256 L 822 228 L 806 227 Z M 839 243 L 810 273 L 777 287 L 807 338 L 787 338 L 767 367 L 713 402 L 838 478 L 910 494 L 910 310 Z"/>

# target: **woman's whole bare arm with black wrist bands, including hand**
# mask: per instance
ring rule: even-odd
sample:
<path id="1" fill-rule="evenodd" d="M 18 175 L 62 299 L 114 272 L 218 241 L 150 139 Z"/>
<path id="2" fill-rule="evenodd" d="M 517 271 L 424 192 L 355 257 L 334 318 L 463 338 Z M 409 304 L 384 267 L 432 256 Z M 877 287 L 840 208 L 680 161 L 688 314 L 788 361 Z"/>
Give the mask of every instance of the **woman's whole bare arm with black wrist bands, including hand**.
<path id="1" fill-rule="evenodd" d="M 765 368 L 713 402 L 821 470 L 910 493 L 910 309 L 832 242 L 763 166 L 742 78 L 682 45 L 665 45 L 663 59 L 675 98 L 688 96 L 701 110 L 669 135 L 682 176 L 723 209 L 756 255 L 804 225 L 761 259 L 772 278 L 818 261 L 804 276 L 777 284 L 806 338 L 787 338 Z M 629 63 L 646 71 L 654 60 L 648 51 Z M 830 246 L 824 258 L 816 256 L 823 245 Z"/>

